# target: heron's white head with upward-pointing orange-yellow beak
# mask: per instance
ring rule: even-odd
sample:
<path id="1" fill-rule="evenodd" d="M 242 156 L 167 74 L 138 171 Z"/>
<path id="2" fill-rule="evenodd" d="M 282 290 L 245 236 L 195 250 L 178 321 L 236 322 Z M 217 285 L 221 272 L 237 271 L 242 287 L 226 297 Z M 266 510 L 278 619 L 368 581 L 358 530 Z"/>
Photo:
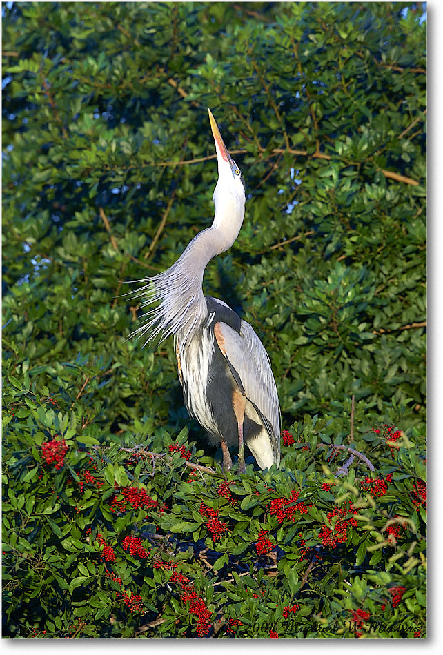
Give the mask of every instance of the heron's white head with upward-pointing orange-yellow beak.
<path id="1" fill-rule="evenodd" d="M 213 130 L 213 137 L 215 141 L 215 150 L 217 152 L 217 162 L 219 168 L 219 179 L 217 186 L 214 190 L 213 200 L 216 205 L 238 205 L 239 212 L 242 213 L 242 221 L 244 216 L 244 205 L 246 202 L 245 186 L 242 171 L 239 169 L 233 158 L 228 152 L 228 148 L 224 145 L 222 134 L 220 134 L 219 127 L 215 122 L 215 118 L 210 109 L 209 121 L 210 127 Z"/>

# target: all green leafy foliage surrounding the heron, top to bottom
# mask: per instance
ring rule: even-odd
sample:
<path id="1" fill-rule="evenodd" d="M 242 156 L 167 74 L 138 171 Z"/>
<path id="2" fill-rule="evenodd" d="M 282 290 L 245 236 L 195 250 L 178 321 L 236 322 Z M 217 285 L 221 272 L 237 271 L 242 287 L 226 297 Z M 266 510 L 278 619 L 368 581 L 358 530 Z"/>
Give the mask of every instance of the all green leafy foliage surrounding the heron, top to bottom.
<path id="1" fill-rule="evenodd" d="M 208 624 L 222 637 L 424 636 L 420 10 L 31 2 L 2 12 L 7 636 L 206 636 Z M 232 498 L 217 493 L 219 453 L 205 445 L 204 455 L 195 423 L 197 442 L 186 441 L 172 343 L 153 352 L 128 340 L 142 310 L 124 295 L 212 220 L 208 107 L 248 199 L 205 292 L 257 330 L 295 439 L 281 470 L 230 474 Z M 398 427 L 400 448 L 384 424 Z M 53 439 L 64 446 L 43 455 Z M 169 449 L 177 442 L 216 473 L 193 476 Z M 335 478 L 351 452 L 332 445 L 362 453 L 374 478 L 392 473 L 386 494 L 362 490 L 358 457 Z M 149 507 L 128 505 L 132 486 Z M 279 523 L 270 503 L 291 492 L 309 508 Z M 353 503 L 357 526 L 326 547 L 348 521 L 328 514 Z M 407 527 L 386 543 L 396 515 Z M 211 532 L 211 520 L 226 530 Z M 147 557 L 122 547 L 131 536 Z M 266 539 L 276 548 L 260 555 Z M 174 572 L 189 582 L 170 582 Z M 397 604 L 395 587 L 405 587 Z"/>

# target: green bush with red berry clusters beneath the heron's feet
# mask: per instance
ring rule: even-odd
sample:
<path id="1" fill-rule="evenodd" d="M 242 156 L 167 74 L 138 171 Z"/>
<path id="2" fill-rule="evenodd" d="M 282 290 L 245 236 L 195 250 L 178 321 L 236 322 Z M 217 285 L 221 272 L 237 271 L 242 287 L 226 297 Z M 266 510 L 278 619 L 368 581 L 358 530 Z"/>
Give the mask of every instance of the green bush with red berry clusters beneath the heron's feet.
<path id="1" fill-rule="evenodd" d="M 357 403 L 352 439 L 351 416 L 305 416 L 279 470 L 224 474 L 187 429 L 79 434 L 22 371 L 4 390 L 4 636 L 426 636 L 426 449 L 392 407 L 366 429 Z"/>

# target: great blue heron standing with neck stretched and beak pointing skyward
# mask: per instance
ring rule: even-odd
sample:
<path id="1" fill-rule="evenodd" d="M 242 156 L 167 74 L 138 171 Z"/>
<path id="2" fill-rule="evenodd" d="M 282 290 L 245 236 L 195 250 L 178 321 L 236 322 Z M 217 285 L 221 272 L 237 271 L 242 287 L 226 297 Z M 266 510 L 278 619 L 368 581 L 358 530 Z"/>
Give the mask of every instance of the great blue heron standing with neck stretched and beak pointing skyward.
<path id="1" fill-rule="evenodd" d="M 213 114 L 219 179 L 213 194 L 215 216 L 168 270 L 145 280 L 144 306 L 155 303 L 134 334 L 147 341 L 171 334 L 184 402 L 221 444 L 224 469 L 232 466 L 229 447 L 239 445 L 239 472 L 244 472 L 244 442 L 263 469 L 280 462 L 279 401 L 268 354 L 253 328 L 221 300 L 203 295 L 206 265 L 233 245 L 244 219 L 242 172 L 230 157 Z M 159 305 L 157 306 L 157 303 Z"/>

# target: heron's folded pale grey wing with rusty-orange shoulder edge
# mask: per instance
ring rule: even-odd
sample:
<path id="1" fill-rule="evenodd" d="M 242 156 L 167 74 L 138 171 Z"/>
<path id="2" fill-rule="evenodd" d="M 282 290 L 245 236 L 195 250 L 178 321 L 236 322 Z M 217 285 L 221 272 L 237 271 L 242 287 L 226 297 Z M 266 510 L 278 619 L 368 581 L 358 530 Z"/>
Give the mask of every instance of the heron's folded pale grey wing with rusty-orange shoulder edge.
<path id="1" fill-rule="evenodd" d="M 277 463 L 280 454 L 280 411 L 277 387 L 264 345 L 253 328 L 242 321 L 237 332 L 223 321 L 214 326 L 215 339 L 239 390 L 253 404 L 269 434 Z"/>

